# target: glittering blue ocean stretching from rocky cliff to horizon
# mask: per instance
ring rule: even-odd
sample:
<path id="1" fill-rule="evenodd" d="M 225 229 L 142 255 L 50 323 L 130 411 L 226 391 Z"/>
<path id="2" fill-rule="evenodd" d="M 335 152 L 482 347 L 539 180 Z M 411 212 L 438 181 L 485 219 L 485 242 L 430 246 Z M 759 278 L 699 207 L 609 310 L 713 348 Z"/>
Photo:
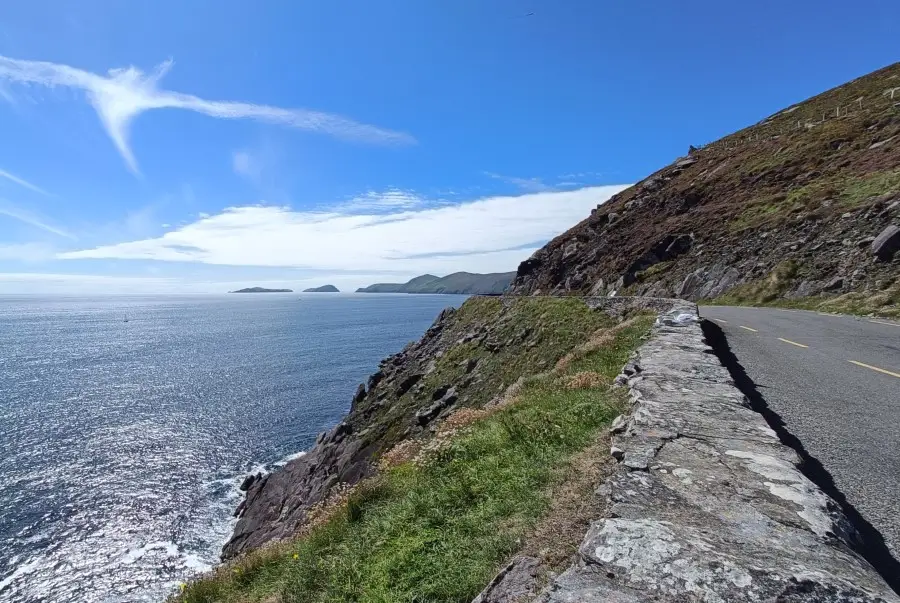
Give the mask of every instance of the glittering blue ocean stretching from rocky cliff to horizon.
<path id="1" fill-rule="evenodd" d="M 0 602 L 159 602 L 463 296 L 0 296 Z M 127 318 L 127 322 L 126 319 Z"/>

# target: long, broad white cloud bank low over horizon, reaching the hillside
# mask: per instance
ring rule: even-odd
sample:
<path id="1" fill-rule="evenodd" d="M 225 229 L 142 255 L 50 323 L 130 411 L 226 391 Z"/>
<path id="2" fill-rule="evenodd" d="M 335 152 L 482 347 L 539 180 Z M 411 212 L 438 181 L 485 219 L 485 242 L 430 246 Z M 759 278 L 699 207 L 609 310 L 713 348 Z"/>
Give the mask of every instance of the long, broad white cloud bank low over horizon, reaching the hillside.
<path id="1" fill-rule="evenodd" d="M 542 242 L 626 188 L 489 197 L 457 205 L 351 215 L 234 207 L 156 238 L 61 253 L 324 271 L 446 273 L 514 270 Z"/>

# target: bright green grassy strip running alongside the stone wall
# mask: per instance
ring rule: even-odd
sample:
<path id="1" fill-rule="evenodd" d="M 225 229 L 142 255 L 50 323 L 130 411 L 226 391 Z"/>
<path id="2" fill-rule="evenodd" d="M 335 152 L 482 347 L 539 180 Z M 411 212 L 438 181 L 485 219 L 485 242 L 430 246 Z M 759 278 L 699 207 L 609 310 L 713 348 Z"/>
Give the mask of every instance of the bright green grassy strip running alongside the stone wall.
<path id="1" fill-rule="evenodd" d="M 361 484 L 306 535 L 223 566 L 176 600 L 470 601 L 523 548 L 573 460 L 621 412 L 624 392 L 608 383 L 651 323 L 643 316 L 596 332 L 553 370 L 521 381 L 514 400 Z"/>

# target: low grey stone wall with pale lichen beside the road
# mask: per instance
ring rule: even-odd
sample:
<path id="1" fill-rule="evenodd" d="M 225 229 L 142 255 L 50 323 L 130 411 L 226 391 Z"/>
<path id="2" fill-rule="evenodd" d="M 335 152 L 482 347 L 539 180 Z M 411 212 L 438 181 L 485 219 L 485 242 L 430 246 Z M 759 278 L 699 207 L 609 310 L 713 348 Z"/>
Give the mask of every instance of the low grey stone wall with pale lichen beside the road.
<path id="1" fill-rule="evenodd" d="M 610 517 L 536 601 L 900 603 L 852 549 L 840 507 L 735 387 L 696 305 L 663 311 L 625 372 L 620 464 L 598 492 Z"/>

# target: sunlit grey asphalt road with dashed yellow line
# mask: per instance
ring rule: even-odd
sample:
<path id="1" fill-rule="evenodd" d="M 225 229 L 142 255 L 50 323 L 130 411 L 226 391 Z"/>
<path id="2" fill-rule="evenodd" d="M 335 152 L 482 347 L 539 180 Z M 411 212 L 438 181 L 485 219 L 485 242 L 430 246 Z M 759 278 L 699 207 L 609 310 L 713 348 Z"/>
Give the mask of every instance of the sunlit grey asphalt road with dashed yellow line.
<path id="1" fill-rule="evenodd" d="M 700 313 L 900 560 L 900 323 L 772 308 Z"/>

